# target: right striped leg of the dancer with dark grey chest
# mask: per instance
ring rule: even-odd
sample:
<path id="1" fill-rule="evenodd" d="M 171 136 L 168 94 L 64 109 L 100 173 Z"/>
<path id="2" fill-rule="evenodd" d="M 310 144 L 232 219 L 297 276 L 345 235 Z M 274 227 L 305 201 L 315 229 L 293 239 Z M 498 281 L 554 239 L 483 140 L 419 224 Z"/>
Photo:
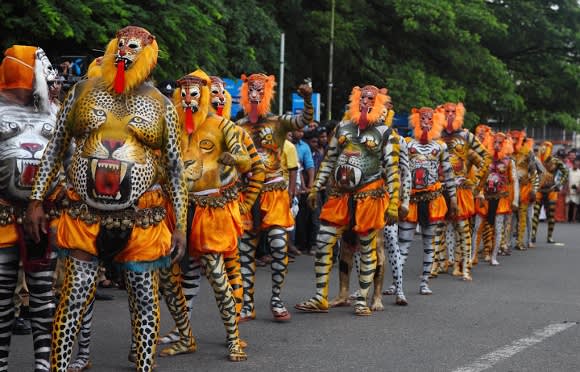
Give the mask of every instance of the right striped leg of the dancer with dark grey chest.
<path id="1" fill-rule="evenodd" d="M 367 297 L 377 268 L 377 230 L 371 230 L 360 235 L 360 273 L 358 276 L 359 290 L 354 302 L 356 315 L 370 315 Z"/>

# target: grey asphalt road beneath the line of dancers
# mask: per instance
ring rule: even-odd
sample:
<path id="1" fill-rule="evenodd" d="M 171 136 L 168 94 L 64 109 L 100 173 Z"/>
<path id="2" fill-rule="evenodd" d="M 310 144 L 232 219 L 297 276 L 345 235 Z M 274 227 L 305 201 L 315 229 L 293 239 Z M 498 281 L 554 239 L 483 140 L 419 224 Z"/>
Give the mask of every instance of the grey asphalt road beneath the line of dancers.
<path id="1" fill-rule="evenodd" d="M 431 281 L 432 296 L 418 294 L 421 252 L 414 243 L 405 272 L 409 306 L 384 297 L 385 311 L 356 317 L 350 308 L 302 314 L 274 323 L 268 308 L 270 272 L 257 274 L 257 318 L 241 325 L 248 361 L 226 359 L 225 332 L 210 288 L 203 280 L 195 304 L 196 353 L 158 358 L 157 371 L 580 371 L 580 225 L 558 224 L 537 248 L 500 257 L 500 266 L 474 270 L 474 281 L 449 275 Z M 417 236 L 418 238 L 418 236 Z M 354 288 L 355 281 L 351 282 Z M 337 292 L 337 270 L 331 296 Z M 93 371 L 130 371 L 129 316 L 124 292 L 97 302 Z M 291 264 L 283 298 L 292 307 L 314 293 L 313 258 Z M 171 328 L 163 308 L 162 332 Z M 11 371 L 32 370 L 31 336 L 14 336 Z"/>

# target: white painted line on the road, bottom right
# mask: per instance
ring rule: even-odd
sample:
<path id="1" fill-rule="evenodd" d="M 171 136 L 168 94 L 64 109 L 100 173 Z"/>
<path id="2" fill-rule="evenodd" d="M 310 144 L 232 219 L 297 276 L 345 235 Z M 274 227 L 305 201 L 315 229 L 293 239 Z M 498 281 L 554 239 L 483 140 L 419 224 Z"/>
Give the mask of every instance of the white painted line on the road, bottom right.
<path id="1" fill-rule="evenodd" d="M 567 330 L 570 327 L 577 325 L 575 322 L 570 323 L 555 323 L 550 324 L 545 328 L 535 331 L 531 336 L 520 338 L 515 340 L 509 345 L 492 351 L 491 353 L 483 355 L 481 358 L 477 359 L 475 362 L 468 364 L 464 367 L 458 368 L 453 372 L 480 372 L 488 368 L 493 367 L 494 364 L 501 362 L 502 360 L 511 358 L 515 354 L 523 351 L 530 346 L 534 346 L 537 343 L 544 341 L 560 332 Z"/>

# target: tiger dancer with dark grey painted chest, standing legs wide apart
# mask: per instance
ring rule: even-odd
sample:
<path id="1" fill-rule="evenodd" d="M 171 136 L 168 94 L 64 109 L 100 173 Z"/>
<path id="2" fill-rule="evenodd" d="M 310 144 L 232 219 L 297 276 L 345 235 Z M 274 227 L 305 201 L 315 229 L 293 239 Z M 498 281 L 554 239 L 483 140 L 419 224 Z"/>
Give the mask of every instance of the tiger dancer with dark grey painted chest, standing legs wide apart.
<path id="1" fill-rule="evenodd" d="M 399 138 L 385 125 L 388 100 L 385 88 L 354 87 L 348 120 L 338 124 L 329 142 L 308 197 L 310 207 L 315 209 L 318 190 L 331 180 L 316 241 L 316 295 L 296 304 L 300 311 L 328 312 L 333 247 L 345 231 L 352 231 L 360 242 L 354 312 L 359 316 L 371 314 L 367 294 L 377 266 L 377 234 L 386 223 L 395 223 L 399 213 Z"/>

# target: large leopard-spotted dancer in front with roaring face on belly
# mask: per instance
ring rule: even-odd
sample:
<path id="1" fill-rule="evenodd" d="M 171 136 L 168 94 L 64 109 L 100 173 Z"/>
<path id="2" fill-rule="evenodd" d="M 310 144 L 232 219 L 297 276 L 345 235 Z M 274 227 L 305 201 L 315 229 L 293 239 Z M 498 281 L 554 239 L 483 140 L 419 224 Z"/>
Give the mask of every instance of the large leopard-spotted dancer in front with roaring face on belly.
<path id="1" fill-rule="evenodd" d="M 146 80 L 157 62 L 155 37 L 129 26 L 111 40 L 102 77 L 77 83 L 59 112 L 55 135 L 36 175 L 27 225 L 36 238 L 44 226 L 41 201 L 74 140 L 67 174 L 66 211 L 56 226 L 65 284 L 54 319 L 51 369 L 65 371 L 80 317 L 96 288 L 98 260 L 125 269 L 133 309 L 137 369 L 151 371 L 159 333 L 157 269 L 185 248 L 187 194 L 182 179 L 177 113 Z M 164 168 L 167 190 L 159 184 Z M 171 202 L 173 233 L 165 213 Z"/>

